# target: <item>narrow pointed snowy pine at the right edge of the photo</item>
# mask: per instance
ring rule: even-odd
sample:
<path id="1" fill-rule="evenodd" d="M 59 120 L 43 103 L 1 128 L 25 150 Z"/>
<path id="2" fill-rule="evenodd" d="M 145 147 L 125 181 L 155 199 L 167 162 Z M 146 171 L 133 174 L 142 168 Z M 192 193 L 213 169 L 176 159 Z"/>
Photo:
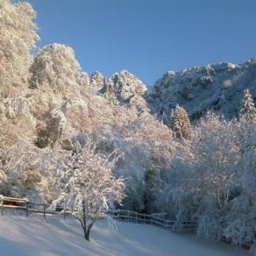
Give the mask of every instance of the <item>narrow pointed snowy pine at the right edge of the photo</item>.
<path id="1" fill-rule="evenodd" d="M 256 121 L 256 108 L 253 103 L 252 95 L 249 89 L 245 89 L 245 96 L 243 99 L 242 107 L 239 111 L 240 119 L 244 119 L 247 122 Z"/>

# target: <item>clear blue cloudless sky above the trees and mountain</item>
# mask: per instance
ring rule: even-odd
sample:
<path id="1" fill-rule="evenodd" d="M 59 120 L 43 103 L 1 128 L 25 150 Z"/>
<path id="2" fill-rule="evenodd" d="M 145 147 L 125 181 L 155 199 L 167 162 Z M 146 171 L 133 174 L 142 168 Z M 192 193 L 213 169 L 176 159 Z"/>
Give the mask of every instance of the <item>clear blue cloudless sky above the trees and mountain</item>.
<path id="1" fill-rule="evenodd" d="M 147 85 L 167 70 L 256 56 L 256 0 L 27 0 L 39 46 L 73 47 L 83 71 L 126 69 Z"/>

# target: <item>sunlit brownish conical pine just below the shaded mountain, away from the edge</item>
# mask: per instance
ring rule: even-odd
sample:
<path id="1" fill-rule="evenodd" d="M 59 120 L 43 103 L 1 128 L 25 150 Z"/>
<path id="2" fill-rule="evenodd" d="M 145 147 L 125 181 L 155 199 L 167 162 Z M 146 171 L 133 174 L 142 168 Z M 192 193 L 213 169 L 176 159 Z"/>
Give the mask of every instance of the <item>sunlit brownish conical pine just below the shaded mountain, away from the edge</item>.
<path id="1" fill-rule="evenodd" d="M 176 105 L 170 118 L 171 128 L 177 138 L 192 139 L 192 127 L 185 109 Z"/>

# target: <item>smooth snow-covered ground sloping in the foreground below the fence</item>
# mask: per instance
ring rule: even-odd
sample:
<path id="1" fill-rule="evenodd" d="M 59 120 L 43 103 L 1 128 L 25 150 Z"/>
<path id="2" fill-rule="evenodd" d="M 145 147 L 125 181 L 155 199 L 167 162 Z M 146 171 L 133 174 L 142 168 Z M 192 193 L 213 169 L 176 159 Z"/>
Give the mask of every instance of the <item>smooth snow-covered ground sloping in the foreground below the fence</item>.
<path id="1" fill-rule="evenodd" d="M 232 245 L 176 234 L 144 224 L 99 221 L 84 240 L 74 219 L 0 217 L 0 255 L 250 255 Z"/>

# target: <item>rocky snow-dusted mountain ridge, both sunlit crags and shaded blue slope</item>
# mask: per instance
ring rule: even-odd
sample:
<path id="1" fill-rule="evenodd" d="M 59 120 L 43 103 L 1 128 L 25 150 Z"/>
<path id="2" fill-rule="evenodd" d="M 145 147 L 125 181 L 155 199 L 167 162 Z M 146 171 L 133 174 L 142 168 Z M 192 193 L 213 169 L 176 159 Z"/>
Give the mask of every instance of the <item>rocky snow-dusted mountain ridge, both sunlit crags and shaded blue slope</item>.
<path id="1" fill-rule="evenodd" d="M 148 88 L 126 70 L 110 78 L 96 71 L 89 81 L 111 102 L 150 111 L 160 119 L 167 118 L 176 104 L 184 107 L 192 120 L 207 110 L 232 118 L 238 116 L 245 89 L 250 89 L 256 99 L 256 60 L 168 71 Z"/>

